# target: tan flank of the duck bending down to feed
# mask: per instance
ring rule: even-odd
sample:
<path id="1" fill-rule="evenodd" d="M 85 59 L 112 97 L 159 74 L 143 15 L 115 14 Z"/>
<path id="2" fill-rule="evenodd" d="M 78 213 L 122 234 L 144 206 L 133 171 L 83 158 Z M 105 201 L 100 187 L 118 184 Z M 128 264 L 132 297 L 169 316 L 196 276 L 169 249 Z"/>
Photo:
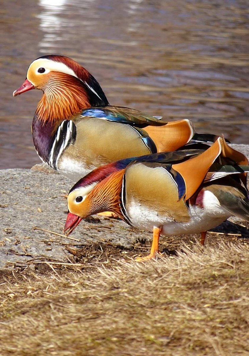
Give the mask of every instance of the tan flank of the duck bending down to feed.
<path id="1" fill-rule="evenodd" d="M 139 220 L 154 214 L 159 220 L 186 222 L 190 219 L 187 204 L 179 199 L 184 193 L 184 180 L 172 174 L 171 164 L 135 162 L 125 170 L 121 211 L 127 222 L 134 213 Z"/>

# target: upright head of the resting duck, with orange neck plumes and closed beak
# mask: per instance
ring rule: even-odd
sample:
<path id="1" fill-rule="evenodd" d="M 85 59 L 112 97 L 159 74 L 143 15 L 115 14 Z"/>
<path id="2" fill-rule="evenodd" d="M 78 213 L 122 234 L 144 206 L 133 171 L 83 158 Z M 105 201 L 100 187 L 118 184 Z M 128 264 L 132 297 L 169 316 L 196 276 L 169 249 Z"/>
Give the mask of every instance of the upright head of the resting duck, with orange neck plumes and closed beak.
<path id="1" fill-rule="evenodd" d="M 93 75 L 65 56 L 51 54 L 35 59 L 28 68 L 26 80 L 13 96 L 32 89 L 44 93 L 36 110 L 43 121 L 65 120 L 90 106 L 109 105 Z"/>

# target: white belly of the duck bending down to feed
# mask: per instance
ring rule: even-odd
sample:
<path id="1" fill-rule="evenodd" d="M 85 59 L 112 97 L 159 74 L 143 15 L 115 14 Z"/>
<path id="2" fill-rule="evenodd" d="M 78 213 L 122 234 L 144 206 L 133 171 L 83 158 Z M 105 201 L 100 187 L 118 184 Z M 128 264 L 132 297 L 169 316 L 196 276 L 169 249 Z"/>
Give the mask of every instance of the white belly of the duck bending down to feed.
<path id="1" fill-rule="evenodd" d="M 134 227 L 153 231 L 153 227 L 161 227 L 161 234 L 167 236 L 198 234 L 212 229 L 225 221 L 231 213 L 222 208 L 218 199 L 209 191 L 204 192 L 204 207 L 189 206 L 190 219 L 187 222 L 177 222 L 165 215 L 159 216 L 156 211 L 139 205 L 133 200 L 127 210 Z"/>

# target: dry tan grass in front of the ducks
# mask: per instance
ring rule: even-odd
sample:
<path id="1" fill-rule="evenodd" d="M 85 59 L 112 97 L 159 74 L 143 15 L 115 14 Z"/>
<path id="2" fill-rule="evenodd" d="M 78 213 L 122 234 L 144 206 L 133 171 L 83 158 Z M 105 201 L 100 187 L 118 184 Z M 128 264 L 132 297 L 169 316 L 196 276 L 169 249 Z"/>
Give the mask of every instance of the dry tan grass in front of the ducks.
<path id="1" fill-rule="evenodd" d="M 249 246 L 223 244 L 3 278 L 0 355 L 248 355 L 248 271 Z"/>

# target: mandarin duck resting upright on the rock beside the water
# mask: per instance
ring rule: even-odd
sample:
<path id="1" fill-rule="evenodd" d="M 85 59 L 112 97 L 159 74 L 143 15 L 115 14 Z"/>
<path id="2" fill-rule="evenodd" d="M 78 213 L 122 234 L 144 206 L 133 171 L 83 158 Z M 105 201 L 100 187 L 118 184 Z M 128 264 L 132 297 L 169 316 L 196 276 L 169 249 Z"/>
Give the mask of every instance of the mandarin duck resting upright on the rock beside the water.
<path id="1" fill-rule="evenodd" d="M 73 179 L 117 160 L 173 151 L 190 140 L 214 141 L 194 132 L 189 120 L 163 122 L 143 112 L 110 106 L 99 83 L 73 59 L 35 59 L 13 96 L 40 89 L 32 124 L 41 160 Z"/>

